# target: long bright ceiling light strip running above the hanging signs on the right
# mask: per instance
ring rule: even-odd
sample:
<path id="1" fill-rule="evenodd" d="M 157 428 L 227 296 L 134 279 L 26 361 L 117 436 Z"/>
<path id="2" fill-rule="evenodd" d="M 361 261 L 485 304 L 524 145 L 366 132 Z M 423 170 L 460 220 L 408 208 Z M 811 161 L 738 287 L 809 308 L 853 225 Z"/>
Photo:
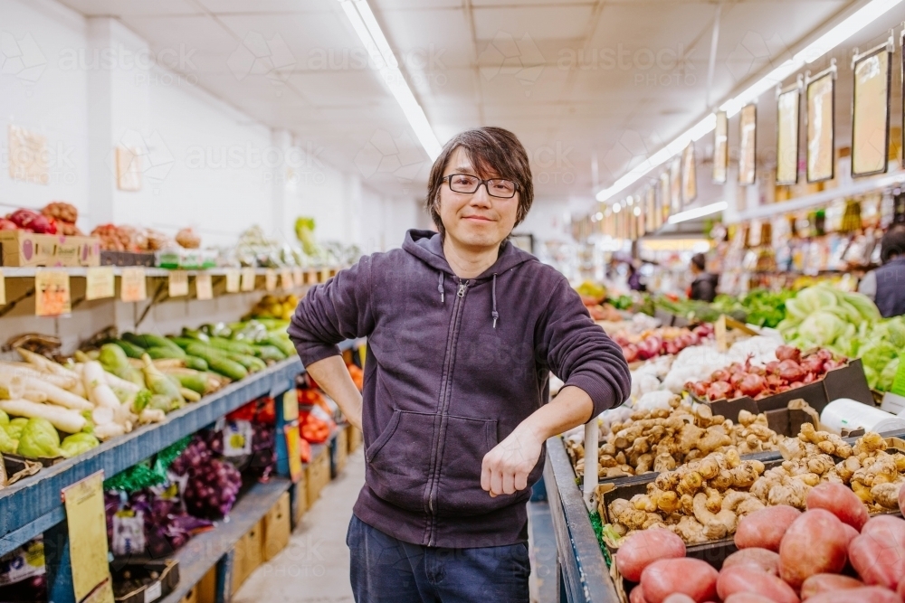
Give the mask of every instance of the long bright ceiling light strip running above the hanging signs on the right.
<path id="1" fill-rule="evenodd" d="M 748 89 L 743 90 L 732 99 L 724 102 L 719 106 L 719 109 L 721 111 L 726 111 L 727 115 L 732 117 L 746 104 L 757 99 L 758 96 L 767 90 L 776 88 L 776 84 L 785 80 L 788 76 L 804 67 L 807 63 L 814 62 L 826 52 L 830 52 L 836 46 L 852 37 L 855 33 L 861 31 L 866 25 L 871 24 L 873 21 L 880 18 L 882 14 L 889 11 L 893 6 L 899 5 L 902 1 L 903 0 L 871 0 L 871 2 L 863 5 L 853 14 L 843 19 L 840 24 L 835 25 L 828 32 L 814 40 L 814 42 L 805 46 L 803 50 L 796 52 L 791 59 L 783 62 L 773 71 L 767 73 L 763 78 L 757 80 L 754 84 L 749 86 Z M 712 131 L 713 128 L 716 127 L 716 121 L 716 116 L 712 113 L 706 118 L 701 119 L 700 122 L 681 134 L 681 136 L 677 137 L 670 144 L 647 157 L 641 164 L 633 167 L 627 174 L 618 178 L 612 185 L 598 192 L 596 194 L 596 200 L 601 202 L 607 201 L 614 195 L 621 193 L 632 184 L 638 182 L 644 174 L 663 165 L 670 158 L 678 155 L 682 149 L 689 145 L 689 143 L 699 140 L 705 134 Z"/>

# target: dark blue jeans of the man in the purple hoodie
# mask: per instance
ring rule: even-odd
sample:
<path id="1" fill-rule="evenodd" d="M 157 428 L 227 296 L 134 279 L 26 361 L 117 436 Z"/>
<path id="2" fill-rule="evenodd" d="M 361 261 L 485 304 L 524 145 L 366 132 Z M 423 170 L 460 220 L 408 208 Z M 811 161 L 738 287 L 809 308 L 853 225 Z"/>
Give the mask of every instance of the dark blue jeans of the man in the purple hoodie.
<path id="1" fill-rule="evenodd" d="M 357 603 L 527 603 L 528 544 L 442 549 L 396 540 L 355 515 L 346 536 Z"/>

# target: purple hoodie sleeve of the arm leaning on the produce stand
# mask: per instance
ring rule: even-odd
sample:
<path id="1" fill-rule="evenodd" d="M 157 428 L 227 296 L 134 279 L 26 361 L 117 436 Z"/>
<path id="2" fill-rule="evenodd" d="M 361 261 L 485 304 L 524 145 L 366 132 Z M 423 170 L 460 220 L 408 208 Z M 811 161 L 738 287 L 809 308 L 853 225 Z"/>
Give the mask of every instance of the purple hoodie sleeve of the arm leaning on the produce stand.
<path id="1" fill-rule="evenodd" d="M 566 278 L 554 287 L 539 327 L 550 370 L 591 397 L 593 417 L 628 399 L 632 377 L 622 349 L 591 320 Z"/>

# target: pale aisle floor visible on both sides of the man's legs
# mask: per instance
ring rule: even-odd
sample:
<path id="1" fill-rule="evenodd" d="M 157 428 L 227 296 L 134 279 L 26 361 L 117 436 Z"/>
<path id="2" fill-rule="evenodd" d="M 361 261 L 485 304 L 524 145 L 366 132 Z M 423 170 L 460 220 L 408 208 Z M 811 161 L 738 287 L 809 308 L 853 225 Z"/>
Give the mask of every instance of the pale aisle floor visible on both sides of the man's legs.
<path id="1" fill-rule="evenodd" d="M 351 603 L 346 528 L 364 481 L 365 459 L 358 448 L 342 475 L 324 488 L 318 502 L 304 514 L 289 546 L 255 570 L 233 595 L 233 603 Z M 534 603 L 552 603 L 556 600 L 556 541 L 546 503 L 530 504 L 529 523 L 531 598 Z"/>

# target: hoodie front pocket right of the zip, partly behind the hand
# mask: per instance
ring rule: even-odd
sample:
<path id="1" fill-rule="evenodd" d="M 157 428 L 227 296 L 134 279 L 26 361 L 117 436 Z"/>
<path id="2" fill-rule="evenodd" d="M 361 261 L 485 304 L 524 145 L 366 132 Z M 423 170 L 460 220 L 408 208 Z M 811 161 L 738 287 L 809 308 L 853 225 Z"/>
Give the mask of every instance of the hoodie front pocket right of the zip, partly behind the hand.
<path id="1" fill-rule="evenodd" d="M 449 417 L 437 490 L 439 513 L 464 517 L 512 504 L 512 495 L 491 497 L 481 488 L 481 463 L 497 445 L 497 421 Z"/>

